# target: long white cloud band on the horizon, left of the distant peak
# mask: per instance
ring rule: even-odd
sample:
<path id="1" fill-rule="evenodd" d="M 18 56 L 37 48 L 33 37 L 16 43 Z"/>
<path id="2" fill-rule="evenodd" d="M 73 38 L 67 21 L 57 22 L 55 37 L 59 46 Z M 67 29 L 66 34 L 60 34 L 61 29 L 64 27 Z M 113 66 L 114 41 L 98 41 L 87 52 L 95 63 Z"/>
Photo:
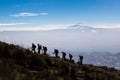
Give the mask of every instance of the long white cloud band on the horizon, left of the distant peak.
<path id="1" fill-rule="evenodd" d="M 45 31 L 67 29 L 70 25 L 44 25 L 38 27 L 0 27 L 0 31 Z"/>

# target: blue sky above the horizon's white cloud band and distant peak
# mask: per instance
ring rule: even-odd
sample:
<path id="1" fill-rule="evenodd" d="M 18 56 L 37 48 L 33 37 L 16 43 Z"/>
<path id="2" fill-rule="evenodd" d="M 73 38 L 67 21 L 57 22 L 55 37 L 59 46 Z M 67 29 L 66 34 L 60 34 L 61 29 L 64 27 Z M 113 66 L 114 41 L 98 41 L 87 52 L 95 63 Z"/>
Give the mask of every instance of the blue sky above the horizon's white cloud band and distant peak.
<path id="1" fill-rule="evenodd" d="M 120 0 L 0 0 L 0 27 L 118 25 Z"/>

